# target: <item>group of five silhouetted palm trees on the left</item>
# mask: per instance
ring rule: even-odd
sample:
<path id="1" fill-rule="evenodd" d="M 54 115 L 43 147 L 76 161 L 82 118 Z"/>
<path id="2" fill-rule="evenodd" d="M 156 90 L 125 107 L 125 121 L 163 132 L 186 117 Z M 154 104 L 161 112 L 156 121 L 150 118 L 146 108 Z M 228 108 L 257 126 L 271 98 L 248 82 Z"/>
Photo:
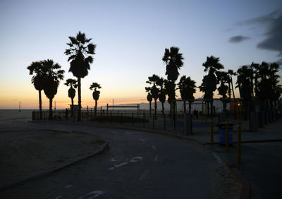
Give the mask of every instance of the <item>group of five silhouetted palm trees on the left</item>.
<path id="1" fill-rule="evenodd" d="M 93 62 L 92 55 L 95 54 L 96 45 L 92 44 L 87 39 L 85 33 L 78 32 L 76 37 L 68 37 L 71 42 L 68 42 L 68 49 L 66 49 L 65 54 L 68 55 L 68 61 L 71 61 L 69 72 L 73 73 L 73 76 L 78 78 L 67 79 L 65 85 L 70 86 L 68 89 L 68 97 L 71 98 L 71 116 L 73 116 L 73 99 L 75 97 L 75 88 L 78 88 L 78 121 L 81 120 L 81 78 L 85 78 L 88 75 L 88 70 L 90 70 L 90 64 Z M 56 95 L 59 87 L 60 80 L 63 80 L 63 73 L 65 71 L 60 70 L 61 66 L 55 64 L 53 60 L 47 59 L 43 61 L 35 61 L 27 66 L 32 76 L 32 84 L 35 89 L 39 92 L 39 119 L 42 119 L 42 90 L 44 90 L 45 95 L 49 98 L 49 119 L 52 119 L 52 100 Z M 90 90 L 94 89 L 92 94 L 95 100 L 94 114 L 96 116 L 97 112 L 97 100 L 99 100 L 100 91 L 97 90 L 101 88 L 98 83 L 92 83 L 90 85 Z"/>

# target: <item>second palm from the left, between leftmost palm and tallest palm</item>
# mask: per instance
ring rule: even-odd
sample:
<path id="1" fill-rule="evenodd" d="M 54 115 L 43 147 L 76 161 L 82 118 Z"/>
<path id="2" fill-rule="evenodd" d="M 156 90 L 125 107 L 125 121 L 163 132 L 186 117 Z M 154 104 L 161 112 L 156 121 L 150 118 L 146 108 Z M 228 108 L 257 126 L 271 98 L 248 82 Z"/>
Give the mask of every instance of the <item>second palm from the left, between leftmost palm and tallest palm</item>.
<path id="1" fill-rule="evenodd" d="M 51 120 L 53 118 L 52 101 L 58 91 L 60 80 L 63 80 L 63 73 L 65 73 L 65 71 L 59 70 L 61 66 L 55 64 L 51 59 L 42 61 L 42 65 L 46 70 L 44 93 L 49 99 L 49 120 Z"/>

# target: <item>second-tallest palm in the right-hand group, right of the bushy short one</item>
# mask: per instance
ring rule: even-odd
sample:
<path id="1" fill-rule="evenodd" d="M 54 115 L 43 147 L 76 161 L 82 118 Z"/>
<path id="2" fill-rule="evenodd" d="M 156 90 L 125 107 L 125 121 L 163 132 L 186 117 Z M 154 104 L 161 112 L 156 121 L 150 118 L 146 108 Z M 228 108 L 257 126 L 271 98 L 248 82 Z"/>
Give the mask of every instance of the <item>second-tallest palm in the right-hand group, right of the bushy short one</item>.
<path id="1" fill-rule="evenodd" d="M 211 99 L 211 101 L 207 102 L 208 107 L 209 107 L 209 103 L 211 104 L 211 113 L 213 115 L 213 97 L 214 97 L 214 91 L 216 90 L 216 76 L 214 75 L 214 73 L 216 73 L 216 71 L 219 71 L 220 69 L 223 69 L 224 66 L 222 64 L 219 63 L 219 57 L 214 57 L 214 56 L 207 56 L 207 61 L 204 62 L 202 64 L 202 66 L 204 66 L 204 72 L 208 72 L 208 77 L 206 79 L 206 83 L 207 83 L 207 90 L 204 90 L 205 94 L 207 93 L 206 97 L 211 97 L 209 99 Z M 206 98 L 207 99 L 207 98 Z M 208 114 L 209 114 L 209 108 L 208 108 Z"/>

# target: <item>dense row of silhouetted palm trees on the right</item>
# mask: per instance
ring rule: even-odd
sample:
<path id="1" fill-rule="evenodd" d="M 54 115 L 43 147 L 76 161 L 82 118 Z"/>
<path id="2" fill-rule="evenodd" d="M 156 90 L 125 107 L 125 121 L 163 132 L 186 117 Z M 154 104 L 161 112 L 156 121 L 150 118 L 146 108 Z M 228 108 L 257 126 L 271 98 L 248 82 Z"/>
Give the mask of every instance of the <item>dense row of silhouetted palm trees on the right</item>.
<path id="1" fill-rule="evenodd" d="M 162 112 L 164 113 L 166 95 L 168 95 L 168 103 L 172 109 L 176 103 L 177 89 L 180 90 L 181 99 L 189 101 L 189 112 L 191 112 L 191 105 L 193 100 L 195 100 L 193 95 L 196 92 L 195 88 L 197 88 L 195 81 L 190 77 L 186 78 L 186 76 L 183 76 L 177 84 L 178 88 L 176 88 L 176 80 L 179 76 L 178 70 L 183 66 L 183 59 L 183 54 L 179 53 L 178 47 L 165 49 L 162 61 L 166 64 L 167 79 L 160 78 L 156 74 L 148 77 L 149 80 L 146 83 L 149 83 L 152 87 L 146 87 L 145 90 L 148 92 L 147 100 L 149 101 L 150 114 L 151 102 L 154 99 L 155 119 L 157 119 L 157 99 L 159 98 L 159 101 L 162 103 Z M 276 107 L 278 98 L 282 93 L 282 87 L 278 84 L 278 78 L 280 78 L 277 74 L 278 64 L 273 63 L 269 65 L 266 62 L 262 62 L 262 64 L 252 63 L 250 66 L 242 66 L 235 73 L 233 70 L 223 71 L 224 66 L 219 61 L 219 57 L 207 56 L 207 60 L 202 64 L 207 75 L 203 77 L 202 83 L 198 88 L 201 92 L 204 92 L 203 98 L 207 104 L 207 114 L 214 114 L 213 97 L 216 89 L 218 94 L 221 95 L 223 111 L 226 111 L 226 104 L 231 100 L 231 92 L 233 100 L 235 100 L 233 76 L 238 76 L 236 88 L 239 88 L 240 99 L 243 102 L 246 114 L 248 111 L 247 106 L 250 104 L 252 97 L 259 99 L 262 104 L 262 110 L 268 109 L 268 107 L 271 109 L 273 106 Z M 184 109 L 186 110 L 186 107 Z"/>

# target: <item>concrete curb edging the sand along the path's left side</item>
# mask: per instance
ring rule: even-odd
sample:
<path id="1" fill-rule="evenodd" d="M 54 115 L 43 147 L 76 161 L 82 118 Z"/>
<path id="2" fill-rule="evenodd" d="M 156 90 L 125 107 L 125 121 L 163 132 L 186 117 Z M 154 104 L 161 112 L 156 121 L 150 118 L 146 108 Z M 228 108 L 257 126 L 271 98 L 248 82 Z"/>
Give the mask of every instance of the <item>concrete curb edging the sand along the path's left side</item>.
<path id="1" fill-rule="evenodd" d="M 26 179 L 17 181 L 17 182 L 15 182 L 15 183 L 11 183 L 11 184 L 8 184 L 8 185 L 6 185 L 6 186 L 2 186 L 2 187 L 0 187 L 0 191 L 4 190 L 4 189 L 6 189 L 6 188 L 11 188 L 11 187 L 13 187 L 13 186 L 17 186 L 17 185 L 20 184 L 20 183 L 25 183 L 25 182 L 30 181 L 30 180 L 39 179 L 39 178 L 41 178 L 41 177 L 43 177 L 43 176 L 48 176 L 48 175 L 50 175 L 50 174 L 55 173 L 56 171 L 60 171 L 61 169 L 65 169 L 66 167 L 70 167 L 72 164 L 75 164 L 75 163 L 80 162 L 80 161 L 82 161 L 82 160 L 84 160 L 84 159 L 88 159 L 88 158 L 90 158 L 90 157 L 93 157 L 94 155 L 97 155 L 97 154 L 99 154 L 99 153 L 104 152 L 104 150 L 106 149 L 106 147 L 107 147 L 108 145 L 109 145 L 109 143 L 108 143 L 107 141 L 105 141 L 105 143 L 102 144 L 102 145 L 99 147 L 99 149 L 97 149 L 95 152 L 92 152 L 92 154 L 90 154 L 90 155 L 86 155 L 85 157 L 81 157 L 81 158 L 79 158 L 79 159 L 75 159 L 73 162 L 69 162 L 69 163 L 67 163 L 67 164 L 63 164 L 61 167 L 58 167 L 58 168 L 56 168 L 56 169 L 51 169 L 50 171 L 44 171 L 44 172 L 42 172 L 41 174 L 36 174 L 35 176 L 30 176 L 30 177 L 27 177 Z"/>

